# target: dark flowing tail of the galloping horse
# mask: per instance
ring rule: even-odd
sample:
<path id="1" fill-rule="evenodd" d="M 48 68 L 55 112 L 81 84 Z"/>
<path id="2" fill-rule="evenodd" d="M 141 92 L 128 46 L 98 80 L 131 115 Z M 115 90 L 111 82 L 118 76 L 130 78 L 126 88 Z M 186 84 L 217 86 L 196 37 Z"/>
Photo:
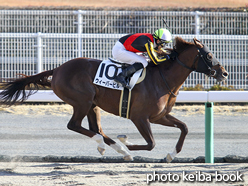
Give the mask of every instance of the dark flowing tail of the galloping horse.
<path id="1" fill-rule="evenodd" d="M 0 93 L 2 104 L 11 106 L 17 101 L 23 102 L 30 95 L 36 93 L 40 86 L 51 87 L 48 77 L 53 75 L 53 70 L 44 71 L 33 76 L 21 75 L 24 77 L 4 84 L 4 90 Z"/>

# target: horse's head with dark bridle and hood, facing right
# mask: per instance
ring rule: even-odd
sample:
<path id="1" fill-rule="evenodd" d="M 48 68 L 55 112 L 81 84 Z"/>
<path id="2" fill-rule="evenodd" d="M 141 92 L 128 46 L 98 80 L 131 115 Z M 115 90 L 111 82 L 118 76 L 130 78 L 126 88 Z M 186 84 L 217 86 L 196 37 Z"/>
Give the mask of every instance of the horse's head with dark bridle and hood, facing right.
<path id="1" fill-rule="evenodd" d="M 195 60 L 198 59 L 197 64 L 195 64 L 195 71 L 213 77 L 218 82 L 226 80 L 228 72 L 221 66 L 220 62 L 214 57 L 208 47 L 195 38 L 194 43 L 198 50 L 198 54 L 195 58 Z"/>

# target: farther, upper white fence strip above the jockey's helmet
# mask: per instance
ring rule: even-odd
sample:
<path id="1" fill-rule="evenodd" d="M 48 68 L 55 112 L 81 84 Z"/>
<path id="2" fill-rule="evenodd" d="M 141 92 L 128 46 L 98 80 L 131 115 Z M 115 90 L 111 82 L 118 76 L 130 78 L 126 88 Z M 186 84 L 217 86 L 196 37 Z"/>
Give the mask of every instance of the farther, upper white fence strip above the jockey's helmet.
<path id="1" fill-rule="evenodd" d="M 248 35 L 246 12 L 0 10 L 0 33 L 154 32 Z"/>

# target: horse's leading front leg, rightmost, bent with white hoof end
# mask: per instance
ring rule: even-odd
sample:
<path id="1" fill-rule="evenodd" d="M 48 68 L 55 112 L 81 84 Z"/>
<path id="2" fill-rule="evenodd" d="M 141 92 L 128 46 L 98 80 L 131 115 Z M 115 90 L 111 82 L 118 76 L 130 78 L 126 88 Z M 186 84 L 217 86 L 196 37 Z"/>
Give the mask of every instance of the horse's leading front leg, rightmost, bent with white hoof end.
<path id="1" fill-rule="evenodd" d="M 176 148 L 172 153 L 168 153 L 168 155 L 166 156 L 167 162 L 171 162 L 175 158 L 175 156 L 182 150 L 185 137 L 188 134 L 188 127 L 185 123 L 183 123 L 182 121 L 176 119 L 175 117 L 169 114 L 165 115 L 164 117 L 160 118 L 157 121 L 153 121 L 153 123 L 161 124 L 168 127 L 176 127 L 181 130 L 181 134 L 177 142 Z"/>

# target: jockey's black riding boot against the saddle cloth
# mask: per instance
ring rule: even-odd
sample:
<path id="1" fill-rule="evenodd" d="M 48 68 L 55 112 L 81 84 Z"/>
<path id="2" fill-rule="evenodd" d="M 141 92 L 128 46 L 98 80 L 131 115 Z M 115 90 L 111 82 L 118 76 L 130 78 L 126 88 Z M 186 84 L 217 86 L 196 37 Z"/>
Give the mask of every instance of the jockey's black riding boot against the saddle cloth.
<path id="1" fill-rule="evenodd" d="M 144 68 L 142 63 L 134 63 L 133 65 L 125 68 L 118 76 L 114 78 L 117 83 L 122 84 L 123 87 L 130 89 L 128 78 L 133 75 L 136 71 Z"/>

